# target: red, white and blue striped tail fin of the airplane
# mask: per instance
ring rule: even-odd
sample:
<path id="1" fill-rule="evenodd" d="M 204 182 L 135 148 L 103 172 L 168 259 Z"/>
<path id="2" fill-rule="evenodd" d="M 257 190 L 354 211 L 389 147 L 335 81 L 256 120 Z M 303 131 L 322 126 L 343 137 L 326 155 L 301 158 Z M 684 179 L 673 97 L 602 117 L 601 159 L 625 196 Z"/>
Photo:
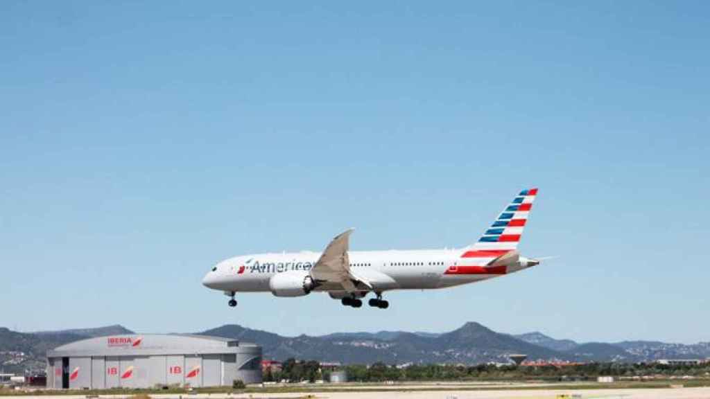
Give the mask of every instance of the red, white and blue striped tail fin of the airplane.
<path id="1" fill-rule="evenodd" d="M 537 195 L 537 188 L 523 190 L 513 199 L 508 207 L 498 216 L 489 229 L 475 244 L 466 248 L 471 251 L 490 252 L 491 256 L 499 256 L 518 248 L 520 236 L 523 235 L 532 201 Z"/>

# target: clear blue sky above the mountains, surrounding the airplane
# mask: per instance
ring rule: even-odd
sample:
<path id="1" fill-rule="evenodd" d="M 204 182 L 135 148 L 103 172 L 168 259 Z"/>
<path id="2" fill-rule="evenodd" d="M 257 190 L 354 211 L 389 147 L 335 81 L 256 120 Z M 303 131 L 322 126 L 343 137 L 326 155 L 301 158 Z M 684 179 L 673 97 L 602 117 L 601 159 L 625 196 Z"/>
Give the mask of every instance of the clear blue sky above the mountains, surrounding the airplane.
<path id="1" fill-rule="evenodd" d="M 709 11 L 4 1 L 0 325 L 708 341 Z M 520 250 L 561 257 L 505 278 L 387 311 L 200 284 L 350 226 L 464 246 L 530 186 Z"/>

